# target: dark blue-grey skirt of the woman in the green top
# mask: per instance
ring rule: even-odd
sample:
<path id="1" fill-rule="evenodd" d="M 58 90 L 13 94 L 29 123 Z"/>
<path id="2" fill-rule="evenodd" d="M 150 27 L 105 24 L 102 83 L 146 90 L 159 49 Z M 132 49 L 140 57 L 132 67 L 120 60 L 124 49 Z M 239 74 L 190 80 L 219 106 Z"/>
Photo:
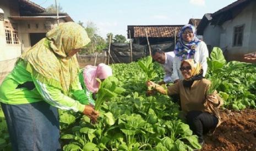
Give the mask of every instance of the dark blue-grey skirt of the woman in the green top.
<path id="1" fill-rule="evenodd" d="M 12 150 L 61 150 L 58 109 L 45 101 L 1 103 Z"/>

